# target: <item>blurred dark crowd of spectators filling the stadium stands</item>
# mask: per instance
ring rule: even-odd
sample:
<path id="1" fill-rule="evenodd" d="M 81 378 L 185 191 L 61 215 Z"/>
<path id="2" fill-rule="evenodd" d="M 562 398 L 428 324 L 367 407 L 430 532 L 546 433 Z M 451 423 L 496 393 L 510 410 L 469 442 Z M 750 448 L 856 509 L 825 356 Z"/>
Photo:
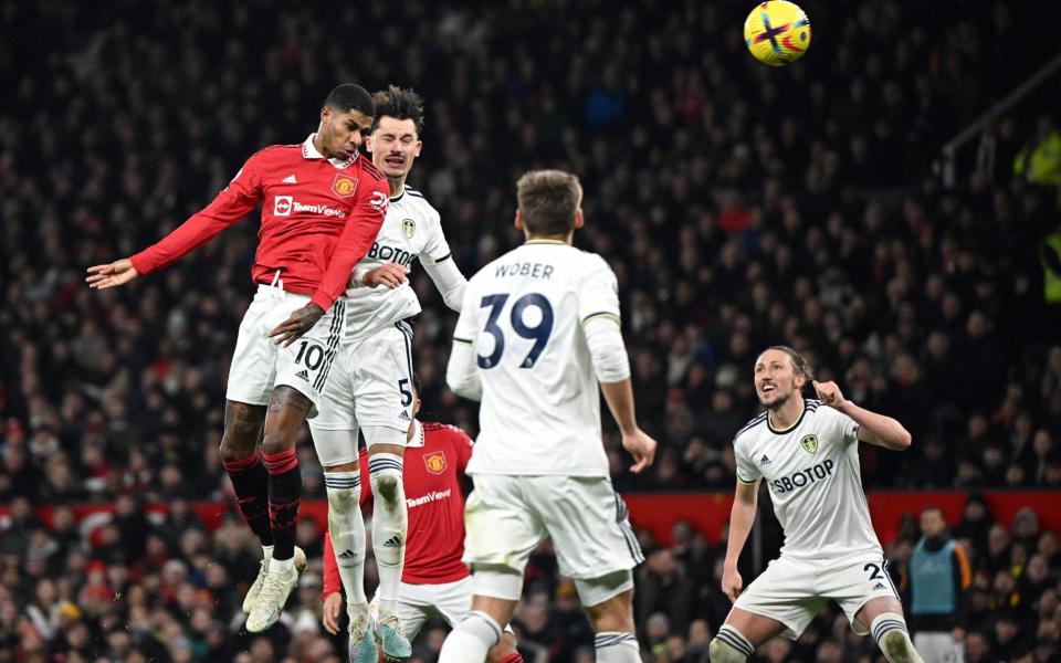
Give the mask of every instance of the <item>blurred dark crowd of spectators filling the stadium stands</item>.
<path id="1" fill-rule="evenodd" d="M 240 632 L 260 552 L 238 516 L 208 534 L 188 507 L 231 495 L 218 448 L 255 221 L 130 287 L 83 284 L 87 265 L 133 253 L 208 202 L 259 147 L 301 141 L 336 82 L 424 95 L 410 181 L 441 211 L 468 275 L 518 241 L 518 173 L 567 167 L 582 179 L 576 242 L 618 275 L 640 422 L 661 442 L 635 477 L 608 429 L 620 490 L 731 491 L 728 442 L 755 413 L 752 365 L 774 343 L 913 432 L 905 454 L 863 445 L 868 488 L 1061 488 L 1061 304 L 1044 299 L 1038 253 L 1058 230 L 1057 133 L 1049 119 L 1043 134 L 1002 118 L 986 125 L 957 188 L 929 172 L 942 143 L 1031 73 L 1048 40 L 1001 0 L 947 12 L 803 4 L 815 45 L 775 70 L 744 51 L 740 3 L 407 1 L 326 13 L 0 2 L 0 504 L 11 509 L 0 663 L 344 651 L 318 627 L 316 565 L 282 625 Z M 475 410 L 442 379 L 455 316 L 426 276 L 413 285 L 422 417 L 474 433 Z M 305 497 L 322 496 L 304 442 Z M 169 515 L 149 519 L 145 502 Z M 115 503 L 115 518 L 86 537 L 71 508 L 81 503 Z M 55 507 L 46 526 L 41 505 Z M 1057 660 L 1057 535 L 1033 514 L 992 523 L 975 501 L 952 525 L 974 569 L 966 661 Z M 313 559 L 321 534 L 300 525 Z M 642 532 L 640 638 L 648 661 L 706 661 L 729 606 L 723 550 L 703 533 L 675 535 L 664 547 Z M 896 569 L 916 538 L 912 519 L 887 551 Z M 822 613 L 760 660 L 873 661 L 843 621 Z M 528 661 L 592 661 L 547 547 L 515 627 Z M 428 632 L 420 660 L 441 640 Z"/>

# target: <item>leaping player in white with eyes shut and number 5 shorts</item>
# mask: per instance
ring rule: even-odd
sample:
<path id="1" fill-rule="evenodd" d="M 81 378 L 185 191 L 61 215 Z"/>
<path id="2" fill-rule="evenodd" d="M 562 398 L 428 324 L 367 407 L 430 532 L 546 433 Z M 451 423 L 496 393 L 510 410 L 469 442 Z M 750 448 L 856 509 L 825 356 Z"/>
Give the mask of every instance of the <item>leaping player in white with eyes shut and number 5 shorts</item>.
<path id="1" fill-rule="evenodd" d="M 412 328 L 406 320 L 420 313 L 407 273 L 419 260 L 454 311 L 460 311 L 468 283 L 450 254 L 439 213 L 406 185 L 422 147 L 423 101 L 413 91 L 392 85 L 372 99 L 376 124 L 368 149 L 387 177 L 390 204 L 376 242 L 350 280 L 343 346 L 324 390 L 321 414 L 309 422 L 324 467 L 328 527 L 348 598 L 354 661 L 376 656 L 364 587 L 358 430 L 368 445 L 368 482 L 376 494 L 372 551 L 379 568 L 379 639 L 388 657 L 405 659 L 412 650 L 398 617 L 408 517 L 401 472 L 413 417 Z"/>

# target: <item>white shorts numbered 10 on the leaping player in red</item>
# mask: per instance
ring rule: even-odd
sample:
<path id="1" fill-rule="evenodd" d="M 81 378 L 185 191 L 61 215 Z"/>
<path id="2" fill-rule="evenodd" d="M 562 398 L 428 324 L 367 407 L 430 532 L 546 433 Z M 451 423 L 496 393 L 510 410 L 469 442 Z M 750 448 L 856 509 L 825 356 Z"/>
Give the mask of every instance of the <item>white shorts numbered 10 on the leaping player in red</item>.
<path id="1" fill-rule="evenodd" d="M 228 400 L 267 406 L 273 388 L 283 385 L 308 398 L 313 403 L 308 417 L 316 417 L 321 393 L 339 349 L 346 302 L 336 299 L 312 329 L 286 348 L 267 336 L 308 302 L 308 295 L 259 284 L 258 293 L 240 323 L 240 335 L 229 368 Z"/>

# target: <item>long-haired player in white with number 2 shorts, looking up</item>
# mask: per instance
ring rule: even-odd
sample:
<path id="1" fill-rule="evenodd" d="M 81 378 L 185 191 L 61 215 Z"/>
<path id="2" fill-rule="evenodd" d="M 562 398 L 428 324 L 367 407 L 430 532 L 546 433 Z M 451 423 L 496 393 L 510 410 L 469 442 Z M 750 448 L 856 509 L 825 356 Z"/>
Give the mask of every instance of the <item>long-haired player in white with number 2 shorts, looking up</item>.
<path id="1" fill-rule="evenodd" d="M 845 400 L 834 382 L 812 382 L 820 400 L 803 399 L 800 390 L 811 379 L 802 355 L 787 346 L 768 348 L 755 362 L 755 390 L 766 412 L 733 440 L 737 490 L 722 590 L 734 604 L 711 642 L 711 660 L 740 663 L 776 635 L 795 640 L 834 600 L 851 628 L 872 633 L 891 663 L 921 663 L 859 472 L 859 441 L 902 451 L 910 433 Z M 785 545 L 745 590 L 737 559 L 755 522 L 760 480 Z"/>

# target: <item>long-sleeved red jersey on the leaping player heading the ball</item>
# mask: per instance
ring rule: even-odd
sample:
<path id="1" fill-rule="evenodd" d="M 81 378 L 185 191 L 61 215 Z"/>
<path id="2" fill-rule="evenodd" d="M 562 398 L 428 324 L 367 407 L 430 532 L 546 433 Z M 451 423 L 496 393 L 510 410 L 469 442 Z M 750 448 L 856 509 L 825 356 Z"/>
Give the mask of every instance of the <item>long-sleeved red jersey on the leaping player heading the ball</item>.
<path id="1" fill-rule="evenodd" d="M 372 245 L 387 213 L 387 178 L 364 156 L 336 164 L 313 146 L 274 145 L 256 152 L 203 210 L 133 256 L 139 274 L 165 267 L 232 225 L 260 202 L 262 228 L 251 277 L 312 295 L 327 308 Z"/>

